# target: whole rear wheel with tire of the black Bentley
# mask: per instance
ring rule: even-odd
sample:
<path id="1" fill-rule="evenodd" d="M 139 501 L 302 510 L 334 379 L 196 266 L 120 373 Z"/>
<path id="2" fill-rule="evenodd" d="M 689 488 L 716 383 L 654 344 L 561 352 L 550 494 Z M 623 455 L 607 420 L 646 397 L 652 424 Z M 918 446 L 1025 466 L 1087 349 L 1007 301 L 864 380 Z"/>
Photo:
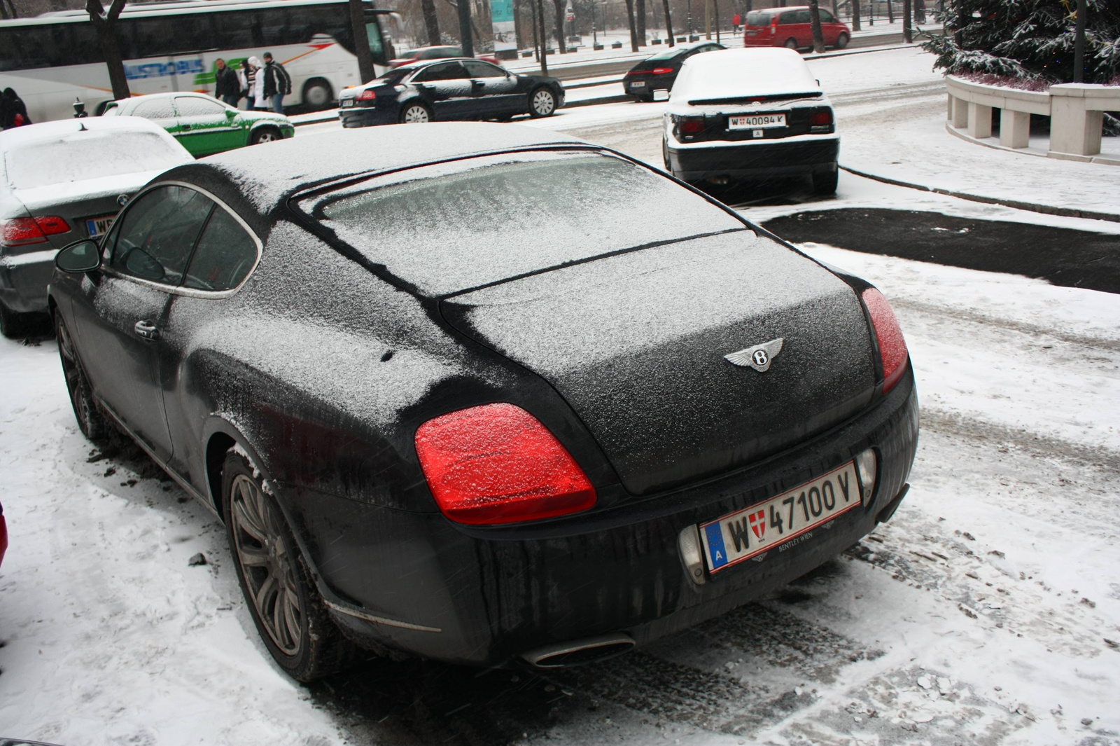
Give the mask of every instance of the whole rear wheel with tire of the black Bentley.
<path id="1" fill-rule="evenodd" d="M 357 649 L 327 614 L 280 506 L 233 450 L 222 466 L 222 510 L 245 605 L 280 668 L 306 682 L 351 665 Z"/>

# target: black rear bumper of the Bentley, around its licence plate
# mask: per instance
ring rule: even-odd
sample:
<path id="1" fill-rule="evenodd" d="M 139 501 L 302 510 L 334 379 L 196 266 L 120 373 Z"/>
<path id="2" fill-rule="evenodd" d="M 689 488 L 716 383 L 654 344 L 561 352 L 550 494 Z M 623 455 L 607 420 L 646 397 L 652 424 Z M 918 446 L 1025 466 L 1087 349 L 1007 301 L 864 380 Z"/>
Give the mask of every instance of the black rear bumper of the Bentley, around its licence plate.
<path id="1" fill-rule="evenodd" d="M 783 454 L 582 517 L 468 528 L 438 513 L 298 488 L 284 489 L 282 500 L 305 532 L 325 597 L 334 609 L 351 610 L 332 613 L 352 637 L 448 662 L 500 665 L 596 636 L 647 643 L 804 575 L 875 528 L 906 483 L 917 431 L 907 372 L 859 416 Z M 866 507 L 703 585 L 689 578 L 678 549 L 682 529 L 768 500 L 868 447 L 878 453 L 879 473 Z"/>

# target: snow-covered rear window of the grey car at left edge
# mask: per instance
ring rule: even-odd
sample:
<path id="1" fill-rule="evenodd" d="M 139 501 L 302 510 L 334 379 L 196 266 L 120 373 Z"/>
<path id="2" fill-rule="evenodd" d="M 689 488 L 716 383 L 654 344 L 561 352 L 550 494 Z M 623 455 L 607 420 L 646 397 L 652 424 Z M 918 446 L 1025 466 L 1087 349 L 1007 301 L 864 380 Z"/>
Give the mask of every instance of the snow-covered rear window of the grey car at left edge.
<path id="1" fill-rule="evenodd" d="M 102 176 L 164 170 L 184 162 L 185 151 L 155 132 L 74 132 L 29 142 L 4 153 L 16 189 L 84 181 Z"/>

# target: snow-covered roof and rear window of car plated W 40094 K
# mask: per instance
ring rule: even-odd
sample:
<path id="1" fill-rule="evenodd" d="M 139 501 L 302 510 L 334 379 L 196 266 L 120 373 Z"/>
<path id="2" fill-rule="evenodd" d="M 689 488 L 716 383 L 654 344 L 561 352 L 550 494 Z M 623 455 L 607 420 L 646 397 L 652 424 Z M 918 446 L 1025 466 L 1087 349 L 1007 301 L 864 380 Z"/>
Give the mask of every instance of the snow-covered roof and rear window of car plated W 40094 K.
<path id="1" fill-rule="evenodd" d="M 820 91 L 809 65 L 793 49 L 724 49 L 685 60 L 669 101 L 671 105 L 688 105 L 744 96 L 819 95 Z"/>

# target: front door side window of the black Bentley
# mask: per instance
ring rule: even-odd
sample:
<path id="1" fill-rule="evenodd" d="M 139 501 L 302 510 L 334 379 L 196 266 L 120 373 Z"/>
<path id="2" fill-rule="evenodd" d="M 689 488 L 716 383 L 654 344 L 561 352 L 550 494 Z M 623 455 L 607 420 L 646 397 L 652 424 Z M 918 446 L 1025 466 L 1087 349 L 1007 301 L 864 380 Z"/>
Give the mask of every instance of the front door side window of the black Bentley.
<path id="1" fill-rule="evenodd" d="M 186 187 L 152 189 L 124 213 L 110 267 L 122 274 L 178 286 L 213 206 L 208 197 Z"/>

